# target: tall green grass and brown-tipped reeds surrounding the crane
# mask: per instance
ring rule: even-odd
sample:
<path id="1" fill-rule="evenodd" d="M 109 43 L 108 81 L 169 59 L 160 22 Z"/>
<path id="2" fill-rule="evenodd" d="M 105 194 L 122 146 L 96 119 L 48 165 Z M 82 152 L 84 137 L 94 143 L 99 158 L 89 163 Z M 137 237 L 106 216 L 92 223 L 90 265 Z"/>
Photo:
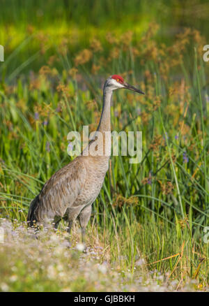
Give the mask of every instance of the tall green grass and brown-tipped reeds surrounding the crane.
<path id="1" fill-rule="evenodd" d="M 40 34 L 35 25 L 36 34 Z M 60 45 L 65 34 L 41 59 L 41 41 L 31 43 L 31 36 L 24 34 L 22 45 L 17 47 L 19 42 L 12 41 L 10 57 L 0 64 L 0 211 L 2 218 L 13 222 L 20 242 L 17 247 L 10 238 L 13 226 L 7 225 L 8 239 L 0 249 L 0 289 L 108 291 L 112 282 L 117 291 L 118 283 L 124 282 L 124 290 L 137 291 L 148 281 L 149 290 L 155 291 L 208 290 L 209 248 L 203 242 L 209 217 L 208 66 L 202 61 L 202 39 L 190 30 L 162 46 L 159 31 L 152 25 L 140 30 L 140 36 L 133 32 L 132 38 L 131 34 L 121 36 L 123 27 L 119 27 L 111 32 L 115 41 L 110 43 L 102 29 L 102 25 L 98 29 L 93 24 L 91 31 L 101 43 L 100 51 L 91 45 L 91 38 L 86 45 L 79 41 L 79 51 L 88 48 L 91 52 L 84 64 L 76 64 L 77 43 Z M 44 31 L 44 35 L 53 32 L 51 26 Z M 82 29 L 79 35 L 84 35 Z M 18 54 L 24 59 L 21 64 L 20 59 L 15 62 Z M 50 64 L 52 54 L 55 59 Z M 94 66 L 99 66 L 97 72 Z M 29 67 L 33 68 L 31 74 L 26 73 Z M 77 69 L 75 76 L 72 68 Z M 21 233 L 21 226 L 25 226 L 29 203 L 42 184 L 70 162 L 68 132 L 82 131 L 83 125 L 91 124 L 90 131 L 97 127 L 102 85 L 113 73 L 124 73 L 128 82 L 146 93 L 138 96 L 118 91 L 111 108 L 112 130 L 143 132 L 143 159 L 130 164 L 129 156 L 111 156 L 88 224 L 87 245 L 95 258 L 63 247 L 69 255 L 68 264 L 60 284 L 54 284 L 54 277 L 59 277 L 57 265 L 63 265 L 67 255 L 54 254 L 40 267 L 39 257 L 50 258 L 50 237 L 41 234 L 40 241 L 34 242 L 25 229 Z M 1 219 L 1 224 L 6 222 Z M 68 240 L 63 224 L 53 237 Z M 70 240 L 74 247 L 78 240 L 75 226 Z M 27 252 L 33 243 L 38 251 L 31 255 L 31 261 Z M 5 265 L 6 258 L 12 264 Z M 109 267 L 104 282 L 104 275 L 98 275 L 98 286 L 95 279 L 88 282 L 91 260 L 93 267 L 104 262 Z M 116 281 L 114 273 L 119 273 Z M 139 286 L 141 277 L 143 284 Z M 187 287 L 191 279 L 195 279 L 194 286 Z"/>

